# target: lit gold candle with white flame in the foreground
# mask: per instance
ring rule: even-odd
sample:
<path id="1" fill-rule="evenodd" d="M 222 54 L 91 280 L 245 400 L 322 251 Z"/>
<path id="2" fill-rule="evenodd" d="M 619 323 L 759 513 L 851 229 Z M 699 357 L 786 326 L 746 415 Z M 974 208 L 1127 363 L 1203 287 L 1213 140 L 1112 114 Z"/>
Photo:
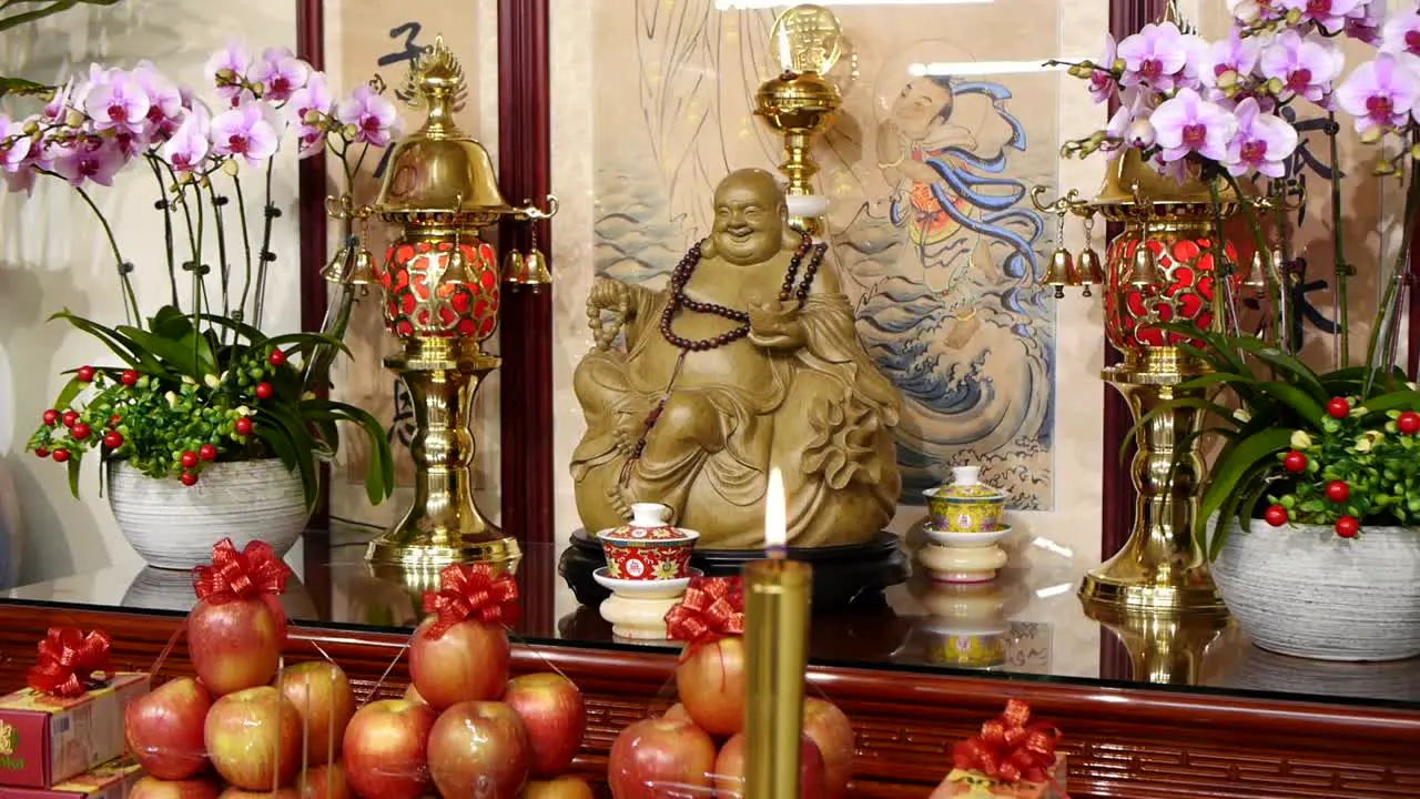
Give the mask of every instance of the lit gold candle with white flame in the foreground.
<path id="1" fill-rule="evenodd" d="M 768 559 L 744 567 L 744 799 L 798 799 L 814 570 L 785 557 L 788 512 L 778 469 L 770 471 L 765 500 Z"/>

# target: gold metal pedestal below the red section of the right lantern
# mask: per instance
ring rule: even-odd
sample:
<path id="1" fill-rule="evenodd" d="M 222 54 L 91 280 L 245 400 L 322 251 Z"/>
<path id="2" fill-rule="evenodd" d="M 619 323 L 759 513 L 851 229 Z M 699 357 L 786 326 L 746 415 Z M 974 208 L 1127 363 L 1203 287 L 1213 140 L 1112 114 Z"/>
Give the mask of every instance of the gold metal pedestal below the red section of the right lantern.
<path id="1" fill-rule="evenodd" d="M 1179 350 L 1160 347 L 1147 361 L 1126 361 L 1102 372 L 1129 402 L 1135 422 L 1176 397 L 1197 395 L 1177 388 L 1203 370 Z M 1135 526 L 1115 557 L 1085 576 L 1079 596 L 1086 603 L 1135 613 L 1227 614 L 1193 530 L 1198 516 L 1203 459 L 1196 439 L 1203 421 L 1197 408 L 1172 408 L 1153 417 L 1135 435 L 1130 476 L 1137 492 Z"/>

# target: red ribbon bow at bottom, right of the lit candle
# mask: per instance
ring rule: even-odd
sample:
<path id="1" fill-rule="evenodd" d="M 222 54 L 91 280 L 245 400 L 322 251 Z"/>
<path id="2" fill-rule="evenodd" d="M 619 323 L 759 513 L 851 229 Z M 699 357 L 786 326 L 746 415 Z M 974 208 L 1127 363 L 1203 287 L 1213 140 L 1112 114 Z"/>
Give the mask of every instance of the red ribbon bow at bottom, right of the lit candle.
<path id="1" fill-rule="evenodd" d="M 1008 701 L 1000 717 L 981 725 L 981 732 L 951 748 L 951 763 L 998 782 L 1049 781 L 1059 731 L 1030 721 L 1031 705 L 1020 699 Z"/>

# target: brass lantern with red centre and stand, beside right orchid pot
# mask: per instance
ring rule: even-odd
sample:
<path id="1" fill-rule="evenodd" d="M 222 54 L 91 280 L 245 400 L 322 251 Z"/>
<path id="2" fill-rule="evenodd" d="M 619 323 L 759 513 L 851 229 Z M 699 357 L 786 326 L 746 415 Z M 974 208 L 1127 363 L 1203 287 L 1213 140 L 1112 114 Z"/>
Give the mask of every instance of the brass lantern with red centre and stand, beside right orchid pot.
<path id="1" fill-rule="evenodd" d="M 1225 616 L 1194 540 L 1204 481 L 1197 451 L 1201 411 L 1173 407 L 1154 414 L 1170 400 L 1203 398 L 1203 390 L 1181 385 L 1207 371 L 1179 347 L 1184 336 L 1159 326 L 1218 324 L 1235 284 L 1235 274 L 1223 279 L 1227 272 L 1216 270 L 1211 192 L 1197 176 L 1180 183 L 1160 175 L 1129 149 L 1110 163 L 1093 200 L 1078 200 L 1075 192 L 1055 203 L 1042 203 L 1038 192 L 1031 196 L 1042 212 L 1075 212 L 1086 219 L 1099 213 L 1125 226 L 1110 243 L 1103 274 L 1105 333 L 1125 360 L 1100 377 L 1125 397 L 1137 427 L 1130 468 L 1137 492 L 1135 523 L 1119 553 L 1085 576 L 1079 596 L 1086 606 L 1113 613 Z M 1228 191 L 1221 199 L 1223 216 L 1233 216 L 1237 196 Z M 1225 253 L 1231 269 L 1235 257 L 1230 247 Z M 1206 279 L 1207 289 L 1201 286 Z M 1065 286 L 1091 283 L 1061 250 L 1045 281 L 1058 294 Z"/>

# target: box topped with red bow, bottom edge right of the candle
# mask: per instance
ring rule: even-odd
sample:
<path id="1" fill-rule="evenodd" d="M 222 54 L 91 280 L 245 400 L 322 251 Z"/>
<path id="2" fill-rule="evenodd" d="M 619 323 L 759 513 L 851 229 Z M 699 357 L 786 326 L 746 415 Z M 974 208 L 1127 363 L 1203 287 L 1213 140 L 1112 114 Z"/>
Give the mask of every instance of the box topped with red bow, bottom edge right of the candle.
<path id="1" fill-rule="evenodd" d="M 1031 721 L 1031 707 L 1011 699 L 981 732 L 951 748 L 951 773 L 932 799 L 1069 799 L 1059 731 Z"/>

